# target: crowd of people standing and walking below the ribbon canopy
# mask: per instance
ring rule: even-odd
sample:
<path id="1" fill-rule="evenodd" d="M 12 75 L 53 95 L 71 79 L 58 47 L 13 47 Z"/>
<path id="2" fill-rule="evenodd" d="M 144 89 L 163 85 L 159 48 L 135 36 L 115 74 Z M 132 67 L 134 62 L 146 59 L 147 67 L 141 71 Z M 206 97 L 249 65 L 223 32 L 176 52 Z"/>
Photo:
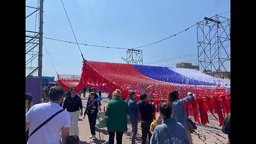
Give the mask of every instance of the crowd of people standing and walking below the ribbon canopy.
<path id="1" fill-rule="evenodd" d="M 86 93 L 86 90 L 85 87 L 82 91 Z M 95 125 L 97 115 L 101 111 L 99 100 L 101 91 L 98 95 L 94 87 L 90 89 L 86 107 L 82 106 L 81 97 L 75 87 L 71 87 L 66 95 L 60 86 L 49 87 L 47 91 L 44 92 L 49 95 L 49 102 L 33 106 L 31 106 L 33 96 L 26 93 L 26 143 L 59 143 L 60 140 L 63 144 L 78 143 L 78 118 L 83 114 L 83 118 L 87 115 L 89 120 L 91 133 L 89 138 L 97 139 Z M 184 105 L 196 99 L 194 94 L 188 93 L 187 97 L 180 99 L 177 91 L 170 92 L 167 101 L 159 104 L 159 112 L 156 113 L 155 119 L 156 106 L 154 102 L 148 102 L 148 94 L 141 93 L 138 103 L 135 101 L 136 97 L 135 91 L 129 92 L 127 100 L 122 99 L 121 91 L 118 89 L 111 94 L 111 100 L 104 111 L 107 116 L 109 144 L 114 144 L 115 136 L 116 143 L 122 143 L 123 133 L 127 131 L 127 118 L 132 126 L 132 144 L 137 143 L 139 120 L 142 144 L 146 144 L 147 138 L 150 144 L 193 143 Z M 85 108 L 84 113 L 83 108 Z M 228 134 L 230 143 L 230 113 L 225 119 L 224 125 L 222 131 Z"/>

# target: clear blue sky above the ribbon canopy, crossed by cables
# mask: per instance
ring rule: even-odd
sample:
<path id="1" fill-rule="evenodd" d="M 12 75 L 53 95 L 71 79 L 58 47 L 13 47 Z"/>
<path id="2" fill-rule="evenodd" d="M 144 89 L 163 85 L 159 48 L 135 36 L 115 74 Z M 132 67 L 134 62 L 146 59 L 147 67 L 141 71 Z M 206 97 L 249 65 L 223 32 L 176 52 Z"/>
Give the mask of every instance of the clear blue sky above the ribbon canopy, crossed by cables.
<path id="1" fill-rule="evenodd" d="M 36 0 L 26 5 L 36 6 Z M 79 43 L 138 47 L 171 36 L 186 29 L 204 17 L 230 11 L 230 1 L 95 1 L 63 0 L 71 25 Z M 30 12 L 26 8 L 26 15 Z M 222 14 L 230 18 L 230 12 Z M 75 42 L 60 0 L 44 1 L 43 36 Z M 35 17 L 26 19 L 26 30 L 34 30 Z M 44 38 L 58 74 L 80 75 L 82 57 L 76 44 Z M 90 61 L 125 63 L 126 50 L 105 49 L 80 45 L 84 58 Z M 170 59 L 197 53 L 196 26 L 161 43 L 143 47 L 143 63 Z M 230 46 L 228 51 L 230 52 Z M 175 67 L 179 62 L 196 62 L 197 54 L 154 66 Z M 150 65 L 150 64 L 149 64 Z M 230 64 L 226 66 L 230 70 Z M 55 76 L 55 70 L 45 47 L 43 48 L 43 76 Z"/>

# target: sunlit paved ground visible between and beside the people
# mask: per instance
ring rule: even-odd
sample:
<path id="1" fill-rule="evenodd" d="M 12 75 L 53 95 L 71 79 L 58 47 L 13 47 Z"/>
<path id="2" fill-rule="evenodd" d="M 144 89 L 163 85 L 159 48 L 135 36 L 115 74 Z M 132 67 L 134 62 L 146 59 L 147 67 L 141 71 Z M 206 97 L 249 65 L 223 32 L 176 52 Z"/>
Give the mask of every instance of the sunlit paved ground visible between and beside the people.
<path id="1" fill-rule="evenodd" d="M 88 97 L 88 93 L 86 93 L 86 98 Z M 108 99 L 107 99 L 107 94 L 103 93 L 102 94 L 103 100 L 101 101 L 102 103 L 102 110 L 103 110 L 103 106 L 107 105 Z M 83 101 L 83 106 L 86 106 L 86 102 L 87 99 L 83 98 L 82 95 L 82 101 Z M 83 110 L 84 111 L 84 110 Z M 193 119 L 193 117 L 190 117 L 191 119 Z M 224 134 L 221 131 L 221 127 L 219 126 L 219 122 L 214 119 L 214 117 L 209 113 L 209 121 L 210 124 L 207 124 L 206 126 L 203 125 L 197 125 L 197 130 L 196 133 L 192 134 L 192 139 L 193 139 L 193 143 L 227 143 L 228 142 L 228 135 Z M 89 126 L 89 121 L 88 121 L 88 117 L 86 116 L 85 119 L 83 119 L 83 116 L 79 117 L 79 121 L 78 121 L 78 126 L 79 126 L 79 138 L 81 140 L 81 142 L 79 142 L 79 144 L 86 144 L 86 143 L 100 143 L 99 140 L 99 132 L 101 132 L 101 137 L 103 137 L 102 139 L 107 139 L 108 137 L 108 131 L 107 129 L 103 129 L 103 130 L 99 130 L 96 129 L 96 140 L 92 140 L 89 138 L 90 136 L 90 126 Z M 128 131 L 124 133 L 123 135 L 123 143 L 131 143 L 131 124 L 128 123 Z M 138 134 L 137 134 L 137 138 L 136 141 L 137 143 L 141 143 L 141 128 L 140 128 L 140 122 L 138 123 Z M 103 142 L 103 141 L 102 141 Z M 108 143 L 108 142 L 106 142 Z"/>

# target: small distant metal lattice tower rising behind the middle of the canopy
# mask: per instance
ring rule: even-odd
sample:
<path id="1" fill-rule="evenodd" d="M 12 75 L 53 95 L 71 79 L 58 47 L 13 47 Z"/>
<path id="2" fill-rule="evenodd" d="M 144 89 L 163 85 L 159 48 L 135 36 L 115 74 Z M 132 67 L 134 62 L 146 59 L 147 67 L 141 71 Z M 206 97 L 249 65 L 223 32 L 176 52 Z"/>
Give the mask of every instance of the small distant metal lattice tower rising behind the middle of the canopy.
<path id="1" fill-rule="evenodd" d="M 142 50 L 128 49 L 126 51 L 126 62 L 132 65 L 143 65 Z"/>

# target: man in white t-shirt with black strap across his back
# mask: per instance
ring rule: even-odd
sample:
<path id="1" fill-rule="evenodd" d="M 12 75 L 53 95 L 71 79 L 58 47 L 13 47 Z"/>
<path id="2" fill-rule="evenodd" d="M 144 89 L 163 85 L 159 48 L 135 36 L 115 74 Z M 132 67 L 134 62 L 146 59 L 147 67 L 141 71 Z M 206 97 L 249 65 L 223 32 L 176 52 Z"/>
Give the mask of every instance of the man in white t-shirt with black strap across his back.
<path id="1" fill-rule="evenodd" d="M 26 114 L 26 130 L 29 126 L 29 135 L 36 127 L 46 119 L 61 110 L 64 98 L 64 90 L 61 87 L 53 86 L 49 91 L 50 102 L 40 103 L 31 107 Z M 58 144 L 62 135 L 62 143 L 66 144 L 69 136 L 70 117 L 67 111 L 62 111 L 49 122 L 43 125 L 28 139 L 28 143 L 37 144 Z"/>

